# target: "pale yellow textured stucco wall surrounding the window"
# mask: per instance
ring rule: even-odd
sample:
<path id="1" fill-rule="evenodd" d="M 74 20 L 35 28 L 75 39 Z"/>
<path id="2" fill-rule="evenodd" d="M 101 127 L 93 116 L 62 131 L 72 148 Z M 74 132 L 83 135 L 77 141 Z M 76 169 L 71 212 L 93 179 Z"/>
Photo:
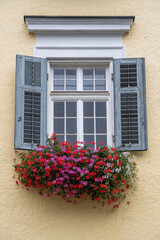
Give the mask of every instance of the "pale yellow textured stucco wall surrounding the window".
<path id="1" fill-rule="evenodd" d="M 127 57 L 146 58 L 149 150 L 138 152 L 137 191 L 117 210 L 69 205 L 17 187 L 14 174 L 15 55 L 32 56 L 23 15 L 135 15 L 123 38 Z M 0 0 L 0 239 L 160 239 L 160 1 Z"/>

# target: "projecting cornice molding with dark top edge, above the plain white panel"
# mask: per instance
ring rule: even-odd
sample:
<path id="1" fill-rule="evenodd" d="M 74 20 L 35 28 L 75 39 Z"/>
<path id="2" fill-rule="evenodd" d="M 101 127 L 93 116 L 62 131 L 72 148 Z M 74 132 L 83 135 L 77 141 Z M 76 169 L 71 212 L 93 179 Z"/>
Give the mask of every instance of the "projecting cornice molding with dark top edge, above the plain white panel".
<path id="1" fill-rule="evenodd" d="M 118 33 L 129 32 L 134 17 L 36 17 L 25 16 L 29 32 Z"/>

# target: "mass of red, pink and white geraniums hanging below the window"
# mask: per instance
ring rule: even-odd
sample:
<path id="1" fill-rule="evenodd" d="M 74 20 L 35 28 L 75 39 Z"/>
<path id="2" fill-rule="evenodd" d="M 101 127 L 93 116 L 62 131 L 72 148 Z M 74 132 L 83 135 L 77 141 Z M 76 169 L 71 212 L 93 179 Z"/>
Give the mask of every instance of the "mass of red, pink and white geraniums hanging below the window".
<path id="1" fill-rule="evenodd" d="M 130 153 L 115 148 L 94 150 L 84 143 L 59 143 L 56 135 L 47 146 L 35 151 L 20 152 L 21 163 L 14 165 L 18 179 L 27 190 L 38 189 L 45 197 L 60 195 L 67 202 L 91 198 L 119 207 L 128 188 L 134 186 L 136 164 Z M 18 181 L 16 181 L 18 184 Z"/>

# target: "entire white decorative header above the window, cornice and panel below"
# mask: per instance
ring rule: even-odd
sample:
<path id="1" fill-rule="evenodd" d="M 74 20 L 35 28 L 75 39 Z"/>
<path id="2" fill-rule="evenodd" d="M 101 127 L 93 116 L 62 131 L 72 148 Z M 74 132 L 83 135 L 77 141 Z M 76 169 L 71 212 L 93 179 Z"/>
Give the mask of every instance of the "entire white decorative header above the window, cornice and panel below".
<path id="1" fill-rule="evenodd" d="M 129 32 L 134 19 L 134 16 L 24 16 L 29 32 L 36 35 L 33 56 L 48 59 L 125 58 L 122 37 Z"/>

